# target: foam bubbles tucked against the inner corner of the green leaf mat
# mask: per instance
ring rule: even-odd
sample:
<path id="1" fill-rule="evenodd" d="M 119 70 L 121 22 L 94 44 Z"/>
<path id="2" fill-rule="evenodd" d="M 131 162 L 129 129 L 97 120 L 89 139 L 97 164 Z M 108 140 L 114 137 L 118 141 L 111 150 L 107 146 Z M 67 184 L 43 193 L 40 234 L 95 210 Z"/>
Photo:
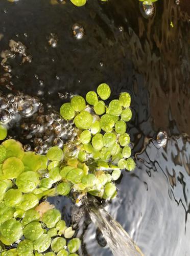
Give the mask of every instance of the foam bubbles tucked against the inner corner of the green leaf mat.
<path id="1" fill-rule="evenodd" d="M 38 154 L 46 154 L 51 146 L 63 145 L 73 142 L 78 134 L 73 120 L 67 121 L 56 112 L 45 114 L 42 108 L 31 118 L 21 123 L 22 136 L 29 140 L 24 146 L 26 151 L 34 151 Z M 42 113 L 41 113 L 42 112 Z"/>

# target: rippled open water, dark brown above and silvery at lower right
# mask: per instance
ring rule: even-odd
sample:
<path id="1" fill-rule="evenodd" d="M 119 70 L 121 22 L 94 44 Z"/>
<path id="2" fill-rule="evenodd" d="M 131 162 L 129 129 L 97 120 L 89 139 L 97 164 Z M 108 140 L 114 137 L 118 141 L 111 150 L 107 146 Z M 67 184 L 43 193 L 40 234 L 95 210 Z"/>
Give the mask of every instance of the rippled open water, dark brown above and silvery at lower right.
<path id="1" fill-rule="evenodd" d="M 0 51 L 14 39 L 28 47 L 33 59 L 22 65 L 19 58 L 10 61 L 14 90 L 36 96 L 40 90 L 40 100 L 56 110 L 64 102 L 58 92 L 85 95 L 101 82 L 110 85 L 112 98 L 122 91 L 131 94 L 128 132 L 137 167 L 123 172 L 118 197 L 105 208 L 151 256 L 190 254 L 190 17 L 184 9 L 174 0 L 159 0 L 154 16 L 146 19 L 137 0 L 88 0 L 81 8 L 68 0 L 64 5 L 0 3 Z M 75 23 L 85 30 L 80 40 L 72 35 Z M 50 33 L 58 36 L 56 48 L 48 45 Z M 7 90 L 4 83 L 1 90 Z M 154 142 L 159 129 L 169 135 L 164 148 Z M 72 221 L 70 200 L 58 200 L 57 207 Z M 107 246 L 101 248 L 101 234 L 88 219 L 80 226 L 81 255 L 111 255 Z"/>

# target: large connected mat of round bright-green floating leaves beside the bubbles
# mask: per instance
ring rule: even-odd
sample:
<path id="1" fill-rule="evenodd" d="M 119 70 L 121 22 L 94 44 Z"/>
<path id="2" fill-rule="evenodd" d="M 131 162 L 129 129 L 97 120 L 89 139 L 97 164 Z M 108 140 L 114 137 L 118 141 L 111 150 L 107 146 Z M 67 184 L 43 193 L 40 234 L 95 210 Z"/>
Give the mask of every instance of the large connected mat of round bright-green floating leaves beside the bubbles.
<path id="1" fill-rule="evenodd" d="M 61 195 L 78 202 L 87 193 L 104 199 L 116 196 L 114 181 L 121 169 L 135 167 L 126 133 L 132 112 L 129 93 L 107 104 L 110 95 L 108 84 L 102 83 L 85 99 L 75 95 L 61 106 L 62 118 L 73 120 L 78 128 L 75 140 L 65 143 L 63 150 L 53 146 L 46 155 L 25 152 L 13 139 L 0 145 L 2 256 L 77 255 L 81 242 L 72 239 L 73 228 L 66 227 L 59 210 L 39 201 Z M 0 136 L 5 135 L 3 127 Z M 13 243 L 17 248 L 5 249 Z"/>

